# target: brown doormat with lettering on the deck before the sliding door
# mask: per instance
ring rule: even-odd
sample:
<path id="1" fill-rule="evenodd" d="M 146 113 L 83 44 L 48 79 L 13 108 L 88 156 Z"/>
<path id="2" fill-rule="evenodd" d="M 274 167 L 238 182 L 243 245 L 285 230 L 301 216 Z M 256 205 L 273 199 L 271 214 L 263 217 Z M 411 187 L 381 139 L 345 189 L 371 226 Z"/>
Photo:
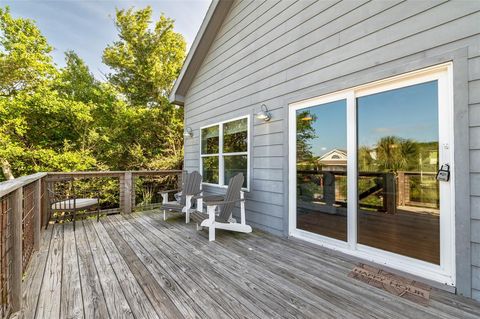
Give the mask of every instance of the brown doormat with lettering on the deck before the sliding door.
<path id="1" fill-rule="evenodd" d="M 365 264 L 355 266 L 348 277 L 424 306 L 428 306 L 430 300 L 428 285 Z"/>

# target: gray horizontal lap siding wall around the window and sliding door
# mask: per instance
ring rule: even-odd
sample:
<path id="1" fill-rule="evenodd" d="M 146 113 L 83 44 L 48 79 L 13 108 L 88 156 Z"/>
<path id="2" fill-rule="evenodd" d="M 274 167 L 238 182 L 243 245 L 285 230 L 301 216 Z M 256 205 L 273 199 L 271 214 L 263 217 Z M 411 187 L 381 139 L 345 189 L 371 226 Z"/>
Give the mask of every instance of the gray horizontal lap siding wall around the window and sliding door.
<path id="1" fill-rule="evenodd" d="M 287 235 L 289 103 L 453 61 L 457 291 L 480 300 L 479 21 L 479 1 L 236 1 L 185 96 L 185 168 L 200 127 L 251 115 L 247 221 Z"/>

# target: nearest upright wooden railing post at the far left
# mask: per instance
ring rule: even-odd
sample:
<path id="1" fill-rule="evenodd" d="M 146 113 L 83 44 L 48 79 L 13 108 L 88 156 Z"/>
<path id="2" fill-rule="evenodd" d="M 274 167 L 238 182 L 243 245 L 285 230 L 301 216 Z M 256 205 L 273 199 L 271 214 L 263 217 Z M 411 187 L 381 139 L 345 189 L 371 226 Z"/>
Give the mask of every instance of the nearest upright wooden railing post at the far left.
<path id="1" fill-rule="evenodd" d="M 10 247 L 11 247 L 11 276 L 10 293 L 13 312 L 22 306 L 22 217 L 23 217 L 23 188 L 12 193 L 10 210 Z"/>

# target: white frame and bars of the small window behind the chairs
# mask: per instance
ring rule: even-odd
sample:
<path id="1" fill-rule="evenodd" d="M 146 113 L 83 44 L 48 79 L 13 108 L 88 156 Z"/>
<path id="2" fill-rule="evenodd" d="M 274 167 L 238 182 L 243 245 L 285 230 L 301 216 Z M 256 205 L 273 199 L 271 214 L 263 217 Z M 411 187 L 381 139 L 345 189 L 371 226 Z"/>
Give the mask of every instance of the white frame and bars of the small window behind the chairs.
<path id="1" fill-rule="evenodd" d="M 238 121 L 238 120 L 243 120 L 247 119 L 247 151 L 246 152 L 233 152 L 233 153 L 224 153 L 223 152 L 223 125 Z M 202 130 L 209 128 L 209 127 L 214 127 L 218 126 L 218 153 L 215 154 L 202 154 Z M 247 179 L 247 187 L 242 187 L 242 190 L 249 192 L 250 191 L 250 115 L 244 115 L 244 116 L 239 116 L 233 119 L 228 119 L 225 121 L 221 122 L 216 122 L 213 124 L 209 124 L 206 126 L 200 127 L 200 142 L 199 142 L 199 149 L 200 149 L 200 172 L 203 174 L 203 158 L 204 157 L 213 157 L 217 156 L 218 157 L 218 184 L 215 183 L 206 183 L 203 182 L 203 185 L 208 185 L 208 186 L 213 186 L 213 187 L 220 187 L 220 188 L 227 188 L 228 185 L 226 185 L 225 182 L 225 157 L 226 156 L 234 156 L 234 155 L 247 155 L 247 176 L 245 178 Z"/>

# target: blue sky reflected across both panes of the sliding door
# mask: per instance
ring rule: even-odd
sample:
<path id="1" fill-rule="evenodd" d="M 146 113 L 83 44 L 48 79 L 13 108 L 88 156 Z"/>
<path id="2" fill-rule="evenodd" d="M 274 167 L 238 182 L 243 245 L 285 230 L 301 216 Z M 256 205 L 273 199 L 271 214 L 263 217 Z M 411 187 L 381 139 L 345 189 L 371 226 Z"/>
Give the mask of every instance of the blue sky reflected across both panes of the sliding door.
<path id="1" fill-rule="evenodd" d="M 358 145 L 374 147 L 384 136 L 417 142 L 438 141 L 437 81 L 412 85 L 358 98 Z M 302 109 L 315 114 L 317 137 L 312 152 L 322 156 L 332 149 L 347 149 L 346 101 Z"/>

